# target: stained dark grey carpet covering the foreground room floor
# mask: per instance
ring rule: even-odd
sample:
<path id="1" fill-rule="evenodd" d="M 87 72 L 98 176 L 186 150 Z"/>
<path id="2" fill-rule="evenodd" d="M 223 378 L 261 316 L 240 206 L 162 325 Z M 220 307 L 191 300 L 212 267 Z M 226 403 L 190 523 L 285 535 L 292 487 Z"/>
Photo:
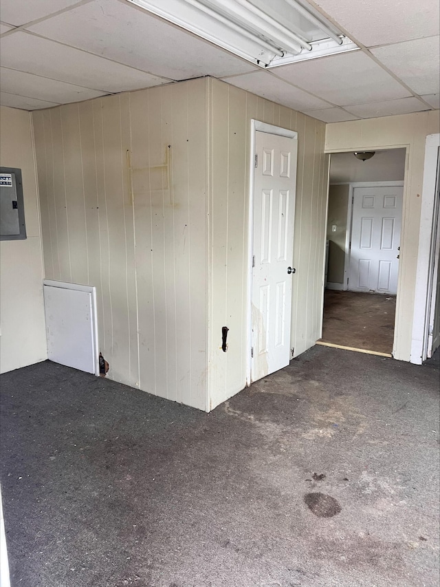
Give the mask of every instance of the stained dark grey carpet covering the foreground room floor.
<path id="1" fill-rule="evenodd" d="M 1 376 L 12 587 L 439 585 L 439 368 L 316 346 L 211 414 Z"/>

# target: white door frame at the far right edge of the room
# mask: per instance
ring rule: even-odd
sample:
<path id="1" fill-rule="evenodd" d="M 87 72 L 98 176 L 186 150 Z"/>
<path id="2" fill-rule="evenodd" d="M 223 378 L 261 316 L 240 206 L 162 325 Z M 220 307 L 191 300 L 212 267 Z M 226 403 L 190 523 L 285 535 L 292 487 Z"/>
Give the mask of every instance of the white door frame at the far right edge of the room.
<path id="1" fill-rule="evenodd" d="M 410 354 L 411 363 L 416 363 L 417 365 L 426 361 L 428 354 L 430 304 L 432 280 L 434 279 L 435 243 L 433 242 L 433 227 L 435 220 L 437 220 L 434 218 L 434 214 L 436 214 L 435 188 L 439 147 L 440 134 L 430 134 L 426 137 L 423 191 L 421 192 L 419 250 L 417 254 L 417 277 Z"/>

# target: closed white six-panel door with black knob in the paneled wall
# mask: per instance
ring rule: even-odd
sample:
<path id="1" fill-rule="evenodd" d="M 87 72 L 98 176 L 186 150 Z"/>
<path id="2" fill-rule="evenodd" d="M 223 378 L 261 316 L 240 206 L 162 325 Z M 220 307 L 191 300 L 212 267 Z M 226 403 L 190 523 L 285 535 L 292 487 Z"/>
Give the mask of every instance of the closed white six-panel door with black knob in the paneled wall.
<path id="1" fill-rule="evenodd" d="M 296 187 L 295 138 L 256 132 L 251 379 L 289 364 Z"/>

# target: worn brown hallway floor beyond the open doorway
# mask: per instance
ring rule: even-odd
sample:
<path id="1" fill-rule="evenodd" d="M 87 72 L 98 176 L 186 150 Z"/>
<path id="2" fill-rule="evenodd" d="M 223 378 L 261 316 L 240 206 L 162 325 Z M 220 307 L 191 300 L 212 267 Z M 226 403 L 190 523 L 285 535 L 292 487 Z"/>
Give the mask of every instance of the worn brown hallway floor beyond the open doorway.
<path id="1" fill-rule="evenodd" d="M 391 355 L 395 295 L 325 290 L 322 342 Z"/>

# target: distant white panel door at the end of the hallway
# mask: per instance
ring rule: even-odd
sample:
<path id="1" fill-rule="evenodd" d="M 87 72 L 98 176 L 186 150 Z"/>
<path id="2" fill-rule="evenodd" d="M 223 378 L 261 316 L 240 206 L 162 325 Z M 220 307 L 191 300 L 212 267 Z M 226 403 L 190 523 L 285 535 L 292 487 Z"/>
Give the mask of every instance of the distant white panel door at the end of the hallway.
<path id="1" fill-rule="evenodd" d="M 397 293 L 403 193 L 402 186 L 353 190 L 349 290 Z"/>

